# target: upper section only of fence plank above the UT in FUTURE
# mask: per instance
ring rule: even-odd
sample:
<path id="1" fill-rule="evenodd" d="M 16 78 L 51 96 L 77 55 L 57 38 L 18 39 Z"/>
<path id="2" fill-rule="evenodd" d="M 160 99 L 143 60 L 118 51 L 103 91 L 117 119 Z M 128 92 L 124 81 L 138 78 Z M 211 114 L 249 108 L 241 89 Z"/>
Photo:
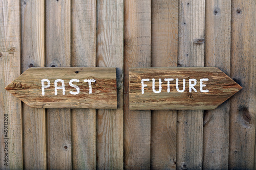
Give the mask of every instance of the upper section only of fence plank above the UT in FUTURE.
<path id="1" fill-rule="evenodd" d="M 152 67 L 176 67 L 178 57 L 178 1 L 153 0 Z"/>

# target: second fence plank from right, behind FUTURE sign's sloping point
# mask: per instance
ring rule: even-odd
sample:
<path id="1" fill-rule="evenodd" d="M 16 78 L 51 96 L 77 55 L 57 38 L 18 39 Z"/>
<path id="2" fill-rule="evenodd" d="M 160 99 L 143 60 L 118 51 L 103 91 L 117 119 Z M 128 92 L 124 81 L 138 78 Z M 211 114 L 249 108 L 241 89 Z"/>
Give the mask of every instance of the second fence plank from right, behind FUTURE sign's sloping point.
<path id="1" fill-rule="evenodd" d="M 230 76 L 231 1 L 205 1 L 205 66 L 217 66 Z M 205 110 L 203 167 L 228 169 L 229 100 Z"/>

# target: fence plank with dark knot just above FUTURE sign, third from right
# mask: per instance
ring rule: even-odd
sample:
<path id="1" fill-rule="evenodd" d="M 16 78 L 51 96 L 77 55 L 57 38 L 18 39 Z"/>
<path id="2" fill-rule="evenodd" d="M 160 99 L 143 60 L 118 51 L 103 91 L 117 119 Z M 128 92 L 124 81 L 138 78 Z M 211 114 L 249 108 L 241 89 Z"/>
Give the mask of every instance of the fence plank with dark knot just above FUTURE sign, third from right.
<path id="1" fill-rule="evenodd" d="M 179 4 L 178 66 L 204 66 L 204 0 Z M 177 114 L 177 168 L 202 169 L 203 110 Z"/>

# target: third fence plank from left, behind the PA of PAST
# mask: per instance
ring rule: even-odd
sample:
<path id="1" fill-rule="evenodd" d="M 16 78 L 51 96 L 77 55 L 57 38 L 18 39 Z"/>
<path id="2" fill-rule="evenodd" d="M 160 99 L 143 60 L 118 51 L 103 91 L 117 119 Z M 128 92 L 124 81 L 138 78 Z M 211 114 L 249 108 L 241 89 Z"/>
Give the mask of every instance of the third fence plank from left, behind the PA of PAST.
<path id="1" fill-rule="evenodd" d="M 71 65 L 71 1 L 46 1 L 46 65 Z M 48 168 L 71 169 L 70 109 L 47 110 Z"/>

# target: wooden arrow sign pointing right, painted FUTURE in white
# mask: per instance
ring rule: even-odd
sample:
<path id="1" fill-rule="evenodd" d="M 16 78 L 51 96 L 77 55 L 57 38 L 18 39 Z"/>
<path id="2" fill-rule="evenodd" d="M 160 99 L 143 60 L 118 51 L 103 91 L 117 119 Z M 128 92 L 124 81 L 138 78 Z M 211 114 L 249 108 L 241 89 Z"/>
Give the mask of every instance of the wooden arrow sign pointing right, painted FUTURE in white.
<path id="1" fill-rule="evenodd" d="M 217 67 L 130 68 L 131 110 L 215 109 L 242 87 Z"/>

